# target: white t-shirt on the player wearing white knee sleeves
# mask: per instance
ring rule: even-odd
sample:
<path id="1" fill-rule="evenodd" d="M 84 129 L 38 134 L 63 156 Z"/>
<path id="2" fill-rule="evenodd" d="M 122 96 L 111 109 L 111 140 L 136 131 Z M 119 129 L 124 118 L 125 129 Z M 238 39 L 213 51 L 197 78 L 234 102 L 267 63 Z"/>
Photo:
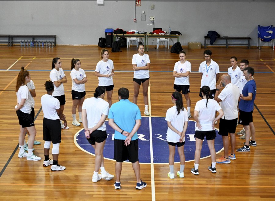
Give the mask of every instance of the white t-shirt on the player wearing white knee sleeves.
<path id="1" fill-rule="evenodd" d="M 51 120 L 59 119 L 56 110 L 60 108 L 59 100 L 49 94 L 44 94 L 41 97 L 41 106 L 44 117 Z"/>

